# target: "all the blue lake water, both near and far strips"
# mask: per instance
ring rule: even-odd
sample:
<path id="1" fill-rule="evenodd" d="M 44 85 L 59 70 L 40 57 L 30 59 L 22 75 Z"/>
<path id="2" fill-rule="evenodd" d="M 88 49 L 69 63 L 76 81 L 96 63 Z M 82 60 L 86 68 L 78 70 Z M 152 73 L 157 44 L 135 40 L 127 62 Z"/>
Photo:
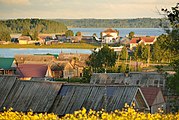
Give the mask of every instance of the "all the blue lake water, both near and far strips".
<path id="1" fill-rule="evenodd" d="M 100 32 L 106 28 L 70 28 L 74 33 L 80 31 L 84 36 L 91 36 L 94 33 L 100 37 Z M 119 30 L 119 35 L 124 37 L 133 31 L 136 35 L 159 36 L 164 32 L 162 28 L 114 28 Z M 64 53 L 87 53 L 90 54 L 91 50 L 87 49 L 1 49 L 0 57 L 14 57 L 15 54 L 59 54 Z"/>

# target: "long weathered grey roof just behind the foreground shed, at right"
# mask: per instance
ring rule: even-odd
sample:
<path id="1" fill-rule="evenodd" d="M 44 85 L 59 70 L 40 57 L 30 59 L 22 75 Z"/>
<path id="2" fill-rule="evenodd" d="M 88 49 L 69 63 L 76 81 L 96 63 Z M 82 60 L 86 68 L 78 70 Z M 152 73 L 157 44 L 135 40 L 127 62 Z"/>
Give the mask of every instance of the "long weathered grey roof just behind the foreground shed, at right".
<path id="1" fill-rule="evenodd" d="M 165 84 L 164 75 L 157 72 L 130 72 L 124 73 L 93 73 L 92 84 L 127 84 L 139 86 L 156 86 Z"/>

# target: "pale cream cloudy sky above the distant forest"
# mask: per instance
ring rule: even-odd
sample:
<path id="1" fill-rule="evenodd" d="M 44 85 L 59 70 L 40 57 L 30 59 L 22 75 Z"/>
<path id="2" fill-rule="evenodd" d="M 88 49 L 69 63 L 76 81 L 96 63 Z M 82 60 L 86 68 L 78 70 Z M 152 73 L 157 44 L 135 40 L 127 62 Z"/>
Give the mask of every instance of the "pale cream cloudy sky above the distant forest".
<path id="1" fill-rule="evenodd" d="M 0 19 L 161 18 L 178 0 L 0 0 Z"/>

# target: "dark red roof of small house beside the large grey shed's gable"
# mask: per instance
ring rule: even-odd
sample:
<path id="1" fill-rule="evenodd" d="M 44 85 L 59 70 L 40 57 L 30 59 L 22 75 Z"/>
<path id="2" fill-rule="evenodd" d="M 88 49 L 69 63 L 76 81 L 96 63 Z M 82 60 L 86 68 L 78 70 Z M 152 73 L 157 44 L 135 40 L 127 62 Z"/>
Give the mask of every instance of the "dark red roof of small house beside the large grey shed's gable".
<path id="1" fill-rule="evenodd" d="M 141 91 L 144 94 L 144 97 L 147 100 L 148 105 L 152 106 L 154 100 L 156 99 L 161 89 L 159 87 L 141 87 Z"/>

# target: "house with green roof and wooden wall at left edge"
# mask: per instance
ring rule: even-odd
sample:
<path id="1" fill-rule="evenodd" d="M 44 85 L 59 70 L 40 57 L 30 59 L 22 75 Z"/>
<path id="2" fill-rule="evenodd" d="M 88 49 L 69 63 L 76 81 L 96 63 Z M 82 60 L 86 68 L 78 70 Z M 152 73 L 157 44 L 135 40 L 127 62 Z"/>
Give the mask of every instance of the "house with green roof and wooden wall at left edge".
<path id="1" fill-rule="evenodd" d="M 15 71 L 14 58 L 0 57 L 0 75 L 14 75 Z"/>

